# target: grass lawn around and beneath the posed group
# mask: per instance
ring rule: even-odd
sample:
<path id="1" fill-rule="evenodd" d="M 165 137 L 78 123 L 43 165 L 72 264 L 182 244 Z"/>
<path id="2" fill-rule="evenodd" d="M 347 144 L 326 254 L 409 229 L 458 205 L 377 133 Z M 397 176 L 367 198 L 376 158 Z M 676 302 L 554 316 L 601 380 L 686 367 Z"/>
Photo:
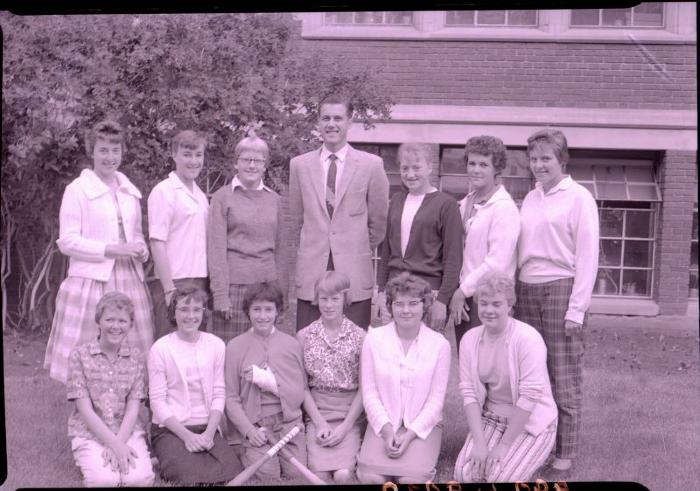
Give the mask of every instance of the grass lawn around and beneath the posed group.
<path id="1" fill-rule="evenodd" d="M 586 336 L 583 439 L 571 481 L 693 489 L 700 482 L 698 319 L 593 316 Z M 453 363 L 438 482 L 452 479 L 466 437 L 454 335 L 448 337 Z M 66 436 L 64 388 L 41 367 L 45 343 L 45 337 L 3 337 L 8 467 L 3 490 L 81 485 Z"/>

